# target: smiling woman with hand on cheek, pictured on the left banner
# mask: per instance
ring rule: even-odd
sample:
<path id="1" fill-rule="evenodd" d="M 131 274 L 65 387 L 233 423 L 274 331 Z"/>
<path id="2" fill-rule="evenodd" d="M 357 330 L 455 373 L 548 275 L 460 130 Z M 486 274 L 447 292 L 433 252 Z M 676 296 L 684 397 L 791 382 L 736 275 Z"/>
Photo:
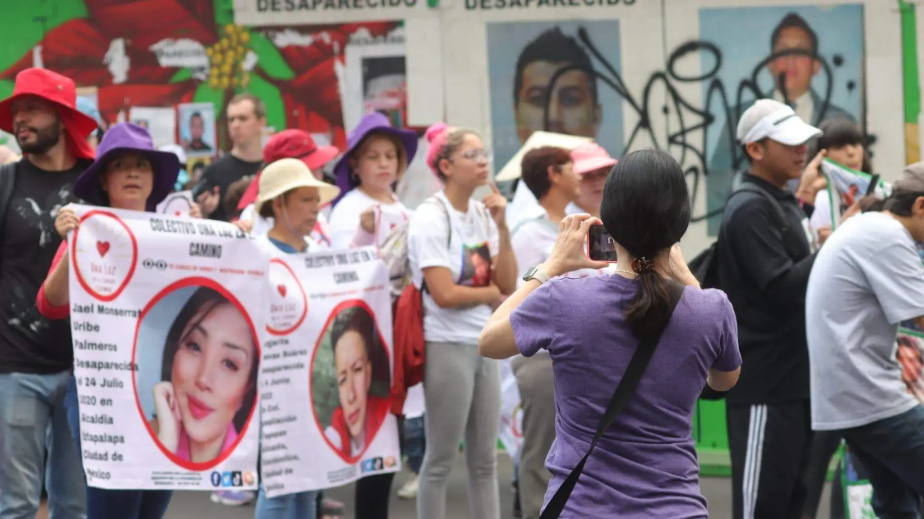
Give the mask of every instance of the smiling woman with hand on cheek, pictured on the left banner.
<path id="1" fill-rule="evenodd" d="M 208 287 L 189 296 L 167 332 L 149 422 L 183 462 L 222 458 L 246 427 L 257 396 L 259 352 L 249 320 Z"/>

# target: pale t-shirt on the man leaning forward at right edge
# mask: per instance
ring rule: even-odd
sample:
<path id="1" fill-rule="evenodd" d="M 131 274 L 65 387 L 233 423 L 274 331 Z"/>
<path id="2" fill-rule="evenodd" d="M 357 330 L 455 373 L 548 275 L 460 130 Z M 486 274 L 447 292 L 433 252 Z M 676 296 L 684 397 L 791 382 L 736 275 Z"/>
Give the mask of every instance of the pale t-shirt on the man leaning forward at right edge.
<path id="1" fill-rule="evenodd" d="M 808 277 L 811 418 L 815 430 L 855 428 L 919 405 L 895 358 L 898 326 L 924 315 L 924 267 L 888 214 L 847 220 Z"/>

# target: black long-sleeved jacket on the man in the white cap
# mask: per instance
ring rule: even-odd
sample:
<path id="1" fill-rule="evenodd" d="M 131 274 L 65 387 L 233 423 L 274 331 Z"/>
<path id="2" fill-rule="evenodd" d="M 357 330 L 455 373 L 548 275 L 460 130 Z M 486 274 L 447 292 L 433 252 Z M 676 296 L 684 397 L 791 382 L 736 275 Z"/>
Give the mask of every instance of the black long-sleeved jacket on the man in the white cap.
<path id="1" fill-rule="evenodd" d="M 754 175 L 776 199 L 789 236 L 771 202 L 759 193 L 729 199 L 716 246 L 719 285 L 735 308 L 741 378 L 726 394 L 730 403 L 782 404 L 808 399 L 805 297 L 815 260 L 796 198 Z"/>

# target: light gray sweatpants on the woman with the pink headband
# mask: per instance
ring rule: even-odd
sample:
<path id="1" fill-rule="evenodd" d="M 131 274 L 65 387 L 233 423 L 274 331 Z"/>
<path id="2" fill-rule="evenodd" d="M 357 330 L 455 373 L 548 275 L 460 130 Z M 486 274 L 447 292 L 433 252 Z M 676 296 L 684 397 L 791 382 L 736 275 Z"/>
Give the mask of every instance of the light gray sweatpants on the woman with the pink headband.
<path id="1" fill-rule="evenodd" d="M 497 427 L 501 380 L 497 361 L 478 355 L 475 344 L 427 343 L 423 396 L 427 450 L 420 467 L 417 516 L 445 519 L 449 471 L 465 440 L 468 511 L 500 519 L 497 489 Z"/>

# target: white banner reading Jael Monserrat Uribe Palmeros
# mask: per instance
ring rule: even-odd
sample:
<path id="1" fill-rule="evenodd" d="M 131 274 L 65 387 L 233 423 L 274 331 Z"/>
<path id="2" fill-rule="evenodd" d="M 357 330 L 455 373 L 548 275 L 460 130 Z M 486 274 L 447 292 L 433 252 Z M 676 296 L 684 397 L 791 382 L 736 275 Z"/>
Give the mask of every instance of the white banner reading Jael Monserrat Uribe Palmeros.
<path id="1" fill-rule="evenodd" d="M 73 207 L 70 317 L 87 484 L 257 489 L 269 249 L 230 223 Z"/>

